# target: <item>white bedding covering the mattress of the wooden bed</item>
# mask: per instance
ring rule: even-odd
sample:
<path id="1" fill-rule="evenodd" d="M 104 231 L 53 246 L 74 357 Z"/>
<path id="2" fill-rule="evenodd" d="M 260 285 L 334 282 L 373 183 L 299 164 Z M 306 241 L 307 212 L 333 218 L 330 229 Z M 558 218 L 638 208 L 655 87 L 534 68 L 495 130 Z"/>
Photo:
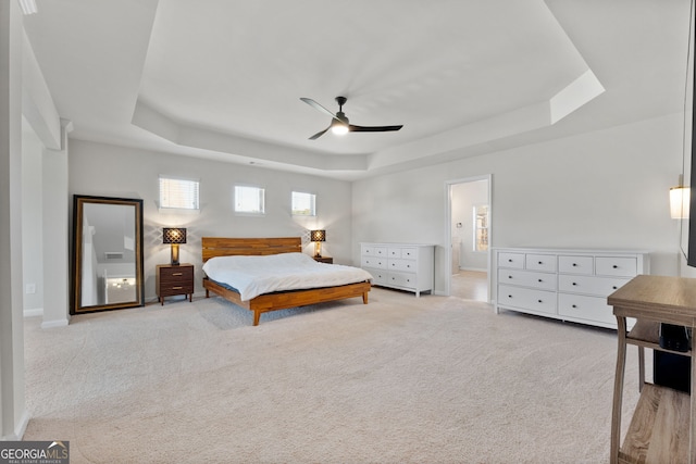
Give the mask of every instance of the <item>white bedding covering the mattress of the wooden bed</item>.
<path id="1" fill-rule="evenodd" d="M 372 280 L 364 269 L 318 263 L 304 253 L 211 258 L 203 264 L 203 272 L 209 278 L 237 289 L 243 301 L 273 291 Z"/>

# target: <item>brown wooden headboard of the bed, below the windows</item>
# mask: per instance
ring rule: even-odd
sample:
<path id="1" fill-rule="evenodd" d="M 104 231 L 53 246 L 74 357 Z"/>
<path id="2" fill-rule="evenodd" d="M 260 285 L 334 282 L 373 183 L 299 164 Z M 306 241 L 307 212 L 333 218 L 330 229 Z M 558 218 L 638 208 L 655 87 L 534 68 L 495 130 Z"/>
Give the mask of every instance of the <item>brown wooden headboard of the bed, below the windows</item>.
<path id="1" fill-rule="evenodd" d="M 203 263 L 215 256 L 278 254 L 302 251 L 300 237 L 223 238 L 202 237 Z"/>

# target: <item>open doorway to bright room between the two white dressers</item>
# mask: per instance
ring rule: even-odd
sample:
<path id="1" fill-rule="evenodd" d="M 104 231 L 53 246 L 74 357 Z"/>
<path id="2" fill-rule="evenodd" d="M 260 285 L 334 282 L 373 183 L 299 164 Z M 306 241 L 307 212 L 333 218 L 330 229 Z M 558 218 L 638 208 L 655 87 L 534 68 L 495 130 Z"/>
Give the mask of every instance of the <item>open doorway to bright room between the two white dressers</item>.
<path id="1" fill-rule="evenodd" d="M 450 180 L 446 188 L 450 269 L 447 294 L 490 301 L 490 175 Z"/>

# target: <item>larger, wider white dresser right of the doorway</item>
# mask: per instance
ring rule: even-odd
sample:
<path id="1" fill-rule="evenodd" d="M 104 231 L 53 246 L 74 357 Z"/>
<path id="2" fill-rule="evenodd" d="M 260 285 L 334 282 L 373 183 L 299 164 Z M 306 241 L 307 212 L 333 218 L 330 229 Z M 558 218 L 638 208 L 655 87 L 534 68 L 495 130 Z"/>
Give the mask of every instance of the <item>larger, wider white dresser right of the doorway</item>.
<path id="1" fill-rule="evenodd" d="M 649 254 L 625 250 L 494 248 L 492 277 L 500 309 L 617 328 L 607 297 L 638 274 Z"/>

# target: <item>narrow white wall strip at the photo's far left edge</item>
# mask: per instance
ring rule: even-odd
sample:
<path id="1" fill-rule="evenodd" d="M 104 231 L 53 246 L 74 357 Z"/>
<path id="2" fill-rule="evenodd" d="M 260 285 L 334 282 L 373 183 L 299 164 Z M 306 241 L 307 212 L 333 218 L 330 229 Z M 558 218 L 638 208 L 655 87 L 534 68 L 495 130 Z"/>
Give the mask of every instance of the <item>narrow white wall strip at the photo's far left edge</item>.
<path id="1" fill-rule="evenodd" d="M 22 437 L 24 398 L 22 272 L 22 13 L 0 2 L 0 440 Z"/>

